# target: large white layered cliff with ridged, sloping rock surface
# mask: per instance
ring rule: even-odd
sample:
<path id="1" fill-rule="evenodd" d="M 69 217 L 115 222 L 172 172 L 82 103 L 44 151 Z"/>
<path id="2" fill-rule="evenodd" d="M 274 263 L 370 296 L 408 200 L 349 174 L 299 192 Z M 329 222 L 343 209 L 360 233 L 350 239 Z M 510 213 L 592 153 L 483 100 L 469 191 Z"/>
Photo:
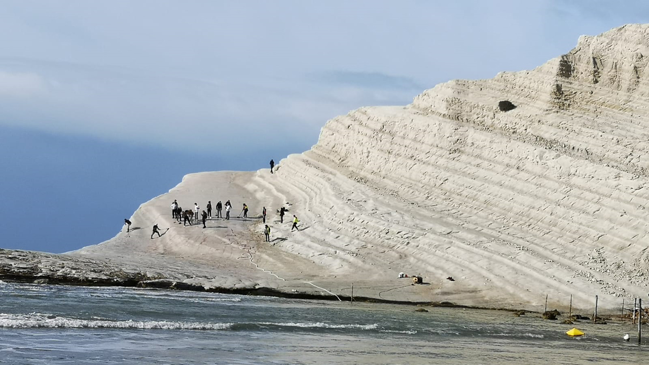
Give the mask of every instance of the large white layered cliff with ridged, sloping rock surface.
<path id="1" fill-rule="evenodd" d="M 71 255 L 141 266 L 173 258 L 175 272 L 197 271 L 188 281 L 215 286 L 350 296 L 354 283 L 354 296 L 533 310 L 546 294 L 559 309 L 570 295 L 573 308 L 591 309 L 598 295 L 600 308 L 618 310 L 647 292 L 648 61 L 649 26 L 626 25 L 582 36 L 532 71 L 354 110 L 275 174 L 188 175 L 134 214 L 146 229 Z M 501 111 L 503 100 L 516 108 Z M 184 208 L 231 199 L 233 215 L 247 203 L 257 218 L 182 227 L 173 199 Z M 172 228 L 151 240 L 154 222 Z M 401 271 L 424 284 L 397 279 Z"/>

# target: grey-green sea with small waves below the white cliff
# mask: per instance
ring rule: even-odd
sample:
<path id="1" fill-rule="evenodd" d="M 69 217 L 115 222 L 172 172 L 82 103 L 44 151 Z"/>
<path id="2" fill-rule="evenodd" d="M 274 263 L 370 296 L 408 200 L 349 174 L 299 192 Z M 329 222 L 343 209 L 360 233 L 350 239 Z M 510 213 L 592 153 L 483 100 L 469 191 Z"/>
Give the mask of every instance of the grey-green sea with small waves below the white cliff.
<path id="1" fill-rule="evenodd" d="M 415 308 L 0 282 L 0 363 L 649 364 L 630 324 Z"/>

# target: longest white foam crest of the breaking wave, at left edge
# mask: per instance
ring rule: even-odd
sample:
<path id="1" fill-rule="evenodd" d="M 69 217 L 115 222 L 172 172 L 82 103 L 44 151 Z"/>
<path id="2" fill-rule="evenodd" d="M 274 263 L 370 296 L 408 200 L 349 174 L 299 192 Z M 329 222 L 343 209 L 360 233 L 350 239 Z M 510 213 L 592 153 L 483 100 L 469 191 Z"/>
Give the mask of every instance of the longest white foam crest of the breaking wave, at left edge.
<path id="1" fill-rule="evenodd" d="M 114 328 L 114 329 L 203 329 L 232 328 L 233 323 L 182 321 L 107 321 L 79 320 L 53 314 L 0 314 L 0 327 L 9 328 Z"/>

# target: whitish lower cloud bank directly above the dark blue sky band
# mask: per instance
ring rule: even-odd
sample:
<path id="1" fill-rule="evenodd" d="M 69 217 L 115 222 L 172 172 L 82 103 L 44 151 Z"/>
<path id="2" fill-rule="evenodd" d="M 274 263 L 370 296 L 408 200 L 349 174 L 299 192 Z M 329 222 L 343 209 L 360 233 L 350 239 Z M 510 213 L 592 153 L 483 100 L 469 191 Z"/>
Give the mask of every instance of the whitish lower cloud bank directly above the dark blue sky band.
<path id="1" fill-rule="evenodd" d="M 338 114 L 363 105 L 407 103 L 414 94 L 354 86 L 358 82 L 206 81 L 28 60 L 0 61 L 2 75 L 10 75 L 6 85 L 21 88 L 0 93 L 0 123 L 193 152 L 217 146 L 237 151 L 244 141 L 304 145 L 310 138 L 313 144 L 325 121 Z"/>

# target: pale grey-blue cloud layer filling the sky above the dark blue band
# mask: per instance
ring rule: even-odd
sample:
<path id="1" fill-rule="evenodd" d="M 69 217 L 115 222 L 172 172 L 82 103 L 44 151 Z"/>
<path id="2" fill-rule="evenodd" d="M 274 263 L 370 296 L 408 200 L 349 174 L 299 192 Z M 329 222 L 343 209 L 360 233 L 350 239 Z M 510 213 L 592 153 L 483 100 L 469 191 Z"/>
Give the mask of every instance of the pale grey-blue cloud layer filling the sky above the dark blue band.
<path id="1" fill-rule="evenodd" d="M 0 123 L 183 151 L 315 143 L 349 110 L 531 69 L 609 28 L 561 4 L 8 0 Z"/>

